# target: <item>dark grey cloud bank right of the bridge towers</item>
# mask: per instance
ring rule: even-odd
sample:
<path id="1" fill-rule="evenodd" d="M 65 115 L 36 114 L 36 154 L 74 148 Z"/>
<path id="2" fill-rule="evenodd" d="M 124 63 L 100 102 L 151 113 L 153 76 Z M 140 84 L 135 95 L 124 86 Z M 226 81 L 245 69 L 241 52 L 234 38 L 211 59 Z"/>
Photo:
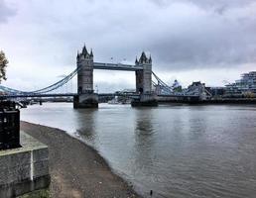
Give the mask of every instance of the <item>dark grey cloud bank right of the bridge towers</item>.
<path id="1" fill-rule="evenodd" d="M 253 27 L 253 22 L 247 26 Z M 224 25 L 223 25 L 224 26 Z M 159 37 L 149 44 L 154 57 L 173 69 L 236 67 L 256 63 L 256 28 L 245 25 L 204 27 L 200 33 L 172 34 Z"/>

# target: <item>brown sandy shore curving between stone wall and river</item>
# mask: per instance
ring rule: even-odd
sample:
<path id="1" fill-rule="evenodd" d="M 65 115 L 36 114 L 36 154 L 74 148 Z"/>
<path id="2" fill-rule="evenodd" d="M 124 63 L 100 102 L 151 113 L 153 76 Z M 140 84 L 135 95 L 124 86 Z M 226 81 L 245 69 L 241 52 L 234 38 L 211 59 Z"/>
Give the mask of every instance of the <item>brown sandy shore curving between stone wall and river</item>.
<path id="1" fill-rule="evenodd" d="M 141 197 L 96 150 L 64 131 L 27 122 L 21 122 L 21 130 L 49 147 L 52 197 Z"/>

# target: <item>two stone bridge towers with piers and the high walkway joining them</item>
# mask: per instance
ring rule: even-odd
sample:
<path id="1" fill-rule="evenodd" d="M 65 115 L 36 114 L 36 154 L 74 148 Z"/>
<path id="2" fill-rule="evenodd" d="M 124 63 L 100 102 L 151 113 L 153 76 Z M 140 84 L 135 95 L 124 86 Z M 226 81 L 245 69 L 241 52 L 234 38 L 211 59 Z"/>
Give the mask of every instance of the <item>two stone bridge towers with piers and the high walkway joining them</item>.
<path id="1" fill-rule="evenodd" d="M 74 97 L 74 108 L 88 108 L 98 106 L 98 95 L 93 90 L 93 70 L 126 70 L 135 71 L 136 93 L 140 94 L 140 100 L 133 101 L 138 105 L 157 105 L 155 94 L 152 92 L 152 58 L 142 52 L 139 60 L 136 58 L 134 65 L 100 63 L 93 61 L 93 52 L 87 51 L 84 46 L 81 52 L 77 52 L 77 93 Z"/>

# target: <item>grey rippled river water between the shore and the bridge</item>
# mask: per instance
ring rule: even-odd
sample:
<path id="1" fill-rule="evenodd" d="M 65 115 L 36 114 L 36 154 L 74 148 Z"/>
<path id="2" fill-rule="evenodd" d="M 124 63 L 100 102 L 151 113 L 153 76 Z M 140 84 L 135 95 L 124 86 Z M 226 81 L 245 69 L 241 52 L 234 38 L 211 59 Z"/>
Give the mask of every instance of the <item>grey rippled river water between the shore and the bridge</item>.
<path id="1" fill-rule="evenodd" d="M 256 106 L 44 103 L 23 109 L 21 119 L 96 148 L 144 195 L 256 197 Z"/>

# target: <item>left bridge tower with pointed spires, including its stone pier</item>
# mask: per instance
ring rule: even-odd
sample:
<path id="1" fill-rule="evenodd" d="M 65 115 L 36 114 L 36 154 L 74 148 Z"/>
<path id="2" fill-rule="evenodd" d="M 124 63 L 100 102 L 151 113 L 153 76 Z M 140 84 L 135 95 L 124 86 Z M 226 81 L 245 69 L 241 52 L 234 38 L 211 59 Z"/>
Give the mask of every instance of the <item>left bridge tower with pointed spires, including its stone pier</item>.
<path id="1" fill-rule="evenodd" d="M 77 96 L 73 98 L 73 108 L 97 108 L 98 95 L 93 90 L 93 52 L 85 45 L 77 52 Z"/>

